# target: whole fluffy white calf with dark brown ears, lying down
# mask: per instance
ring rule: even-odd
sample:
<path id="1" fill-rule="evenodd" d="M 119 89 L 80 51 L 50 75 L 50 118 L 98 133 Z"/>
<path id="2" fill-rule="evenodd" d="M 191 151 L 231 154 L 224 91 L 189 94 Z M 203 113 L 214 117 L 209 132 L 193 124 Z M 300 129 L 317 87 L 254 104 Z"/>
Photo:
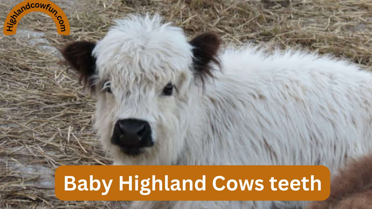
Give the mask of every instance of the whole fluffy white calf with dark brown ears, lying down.
<path id="1" fill-rule="evenodd" d="M 372 74 L 331 57 L 219 49 L 158 15 L 116 21 L 62 53 L 97 97 L 95 128 L 119 165 L 325 165 L 372 148 Z M 222 68 L 222 71 L 219 69 Z M 138 201 L 132 208 L 293 208 L 305 202 Z"/>

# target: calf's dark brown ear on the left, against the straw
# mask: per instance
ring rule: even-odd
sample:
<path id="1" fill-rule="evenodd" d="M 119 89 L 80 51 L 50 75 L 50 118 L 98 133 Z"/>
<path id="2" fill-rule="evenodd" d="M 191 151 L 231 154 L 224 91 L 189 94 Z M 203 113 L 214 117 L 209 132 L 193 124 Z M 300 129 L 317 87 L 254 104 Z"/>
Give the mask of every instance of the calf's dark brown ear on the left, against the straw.
<path id="1" fill-rule="evenodd" d="M 92 87 L 93 75 L 96 73 L 96 58 L 92 55 L 95 46 L 93 42 L 77 41 L 67 44 L 61 50 L 67 64 L 80 74 L 79 81 L 83 81 L 84 86 Z"/>

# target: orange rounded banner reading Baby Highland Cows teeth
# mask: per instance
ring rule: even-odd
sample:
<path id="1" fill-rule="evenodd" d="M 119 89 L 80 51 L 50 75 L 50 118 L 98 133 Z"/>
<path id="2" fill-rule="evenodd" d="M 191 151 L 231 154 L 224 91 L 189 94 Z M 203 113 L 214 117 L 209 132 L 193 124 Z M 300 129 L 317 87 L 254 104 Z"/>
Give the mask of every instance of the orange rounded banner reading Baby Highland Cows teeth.
<path id="1" fill-rule="evenodd" d="M 325 200 L 321 165 L 62 165 L 60 200 Z"/>

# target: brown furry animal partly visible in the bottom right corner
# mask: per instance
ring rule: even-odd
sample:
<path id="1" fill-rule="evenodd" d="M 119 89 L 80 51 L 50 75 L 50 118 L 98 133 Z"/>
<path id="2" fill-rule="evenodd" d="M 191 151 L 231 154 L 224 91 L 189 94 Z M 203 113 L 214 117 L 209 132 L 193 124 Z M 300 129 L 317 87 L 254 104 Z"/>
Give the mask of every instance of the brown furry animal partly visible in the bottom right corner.
<path id="1" fill-rule="evenodd" d="M 306 209 L 372 209 L 372 155 L 348 164 L 331 181 L 328 199 Z"/>

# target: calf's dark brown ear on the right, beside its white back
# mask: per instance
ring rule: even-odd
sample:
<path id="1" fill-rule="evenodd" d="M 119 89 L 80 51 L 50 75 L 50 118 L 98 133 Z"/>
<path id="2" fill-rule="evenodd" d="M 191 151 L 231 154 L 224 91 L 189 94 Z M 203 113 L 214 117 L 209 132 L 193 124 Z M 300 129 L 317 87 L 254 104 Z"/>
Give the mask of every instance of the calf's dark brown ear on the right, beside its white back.
<path id="1" fill-rule="evenodd" d="M 193 65 L 196 77 L 201 78 L 202 82 L 209 76 L 213 77 L 211 63 L 220 67 L 217 52 L 222 40 L 217 33 L 207 32 L 196 36 L 190 41 L 193 48 Z"/>

